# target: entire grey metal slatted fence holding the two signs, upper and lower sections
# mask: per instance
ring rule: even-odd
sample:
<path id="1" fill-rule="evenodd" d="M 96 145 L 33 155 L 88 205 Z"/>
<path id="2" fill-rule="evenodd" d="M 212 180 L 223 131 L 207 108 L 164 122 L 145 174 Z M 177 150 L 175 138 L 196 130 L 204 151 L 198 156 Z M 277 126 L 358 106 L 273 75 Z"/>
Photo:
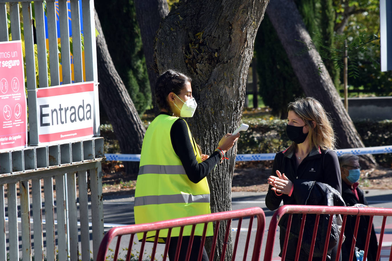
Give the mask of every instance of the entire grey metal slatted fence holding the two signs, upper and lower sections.
<path id="1" fill-rule="evenodd" d="M 82 12 L 80 12 L 80 2 Z M 80 13 L 83 17 L 83 32 Z M 45 16 L 47 28 L 45 28 Z M 31 260 L 32 251 L 34 251 L 34 260 L 44 260 L 44 256 L 47 260 L 56 260 L 56 256 L 62 261 L 79 260 L 81 250 L 82 260 L 87 261 L 91 259 L 91 236 L 94 257 L 103 238 L 101 171 L 103 139 L 91 138 L 36 146 L 38 144 L 36 88 L 60 85 L 56 20 L 60 23 L 61 83 L 80 83 L 83 82 L 83 78 L 85 81 L 97 83 L 93 0 L 46 0 L 45 2 L 0 0 L 0 41 L 22 39 L 24 43 L 31 145 L 0 153 L 0 215 L 4 218 L 0 220 L 0 231 L 4 231 L 0 232 L 0 260 L 19 260 L 20 252 L 23 261 Z M 71 71 L 69 20 L 73 31 L 73 71 Z M 22 34 L 21 23 L 23 23 Z M 9 39 L 8 25 L 11 29 L 11 39 Z M 47 31 L 48 41 L 46 41 L 45 31 Z M 81 33 L 83 33 L 83 41 Z M 34 48 L 37 49 L 37 57 Z M 82 49 L 84 49 L 84 57 Z M 52 54 L 49 61 L 48 50 Z M 84 76 L 83 72 L 85 72 Z M 99 136 L 99 110 L 95 112 L 94 133 Z M 90 191 L 91 214 L 88 207 Z M 8 223 L 5 221 L 5 214 Z M 89 230 L 90 218 L 92 233 Z M 21 222 L 19 227 L 18 222 Z M 80 224 L 80 232 L 78 224 Z M 19 229 L 21 229 L 21 239 L 19 239 Z M 32 248 L 32 238 L 34 248 Z M 79 243 L 81 249 L 78 247 Z"/>

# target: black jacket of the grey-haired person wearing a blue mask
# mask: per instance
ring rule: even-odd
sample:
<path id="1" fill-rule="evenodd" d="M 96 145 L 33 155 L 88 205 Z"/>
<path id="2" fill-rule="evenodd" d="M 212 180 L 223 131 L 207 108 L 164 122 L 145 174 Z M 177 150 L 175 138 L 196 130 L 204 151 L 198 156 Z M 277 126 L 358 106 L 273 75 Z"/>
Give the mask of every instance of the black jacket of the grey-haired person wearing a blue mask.
<path id="1" fill-rule="evenodd" d="M 365 196 L 363 196 L 362 189 L 359 187 L 356 188 L 358 193 L 358 198 L 354 195 L 350 186 L 348 186 L 345 182 L 342 182 L 342 197 L 343 200 L 346 202 L 347 206 L 354 206 L 355 204 L 364 204 L 368 205 Z M 346 236 L 345 241 L 342 244 L 342 260 L 348 260 L 350 257 L 350 250 L 351 250 L 351 243 L 352 237 L 354 236 L 354 229 L 355 229 L 355 221 L 357 216 L 347 216 L 346 226 L 344 229 L 344 234 Z M 361 216 L 359 218 L 359 225 L 358 225 L 358 232 L 357 232 L 357 241 L 355 246 L 359 248 L 359 250 L 365 250 L 365 243 L 366 243 L 366 236 L 367 236 L 367 229 L 369 225 L 369 216 Z M 367 254 L 367 261 L 375 261 L 377 255 L 377 237 L 376 232 L 374 232 L 374 226 L 372 225 L 372 231 L 370 232 L 370 239 L 369 239 L 369 248 Z M 357 260 L 355 255 L 352 260 Z"/>

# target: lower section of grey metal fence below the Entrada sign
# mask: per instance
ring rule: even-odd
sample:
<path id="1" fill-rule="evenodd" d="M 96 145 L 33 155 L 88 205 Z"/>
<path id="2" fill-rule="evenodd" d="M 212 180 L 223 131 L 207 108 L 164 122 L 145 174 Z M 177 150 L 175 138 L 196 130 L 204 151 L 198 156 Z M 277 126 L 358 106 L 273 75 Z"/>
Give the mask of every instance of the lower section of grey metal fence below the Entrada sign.
<path id="1" fill-rule="evenodd" d="M 71 143 L 68 143 L 69 147 Z M 96 257 L 103 238 L 101 170 L 103 138 L 85 140 L 80 144 L 82 147 L 77 151 L 74 149 L 69 163 L 60 164 L 60 155 L 60 158 L 55 160 L 58 162 L 57 166 L 49 166 L 50 161 L 45 160 L 46 167 L 42 167 L 42 162 L 40 162 L 42 155 L 40 156 L 39 153 L 46 154 L 47 151 L 42 148 L 47 147 L 36 147 L 34 153 L 37 157 L 34 157 L 36 160 L 34 166 L 39 167 L 27 171 L 23 167 L 27 166 L 26 162 L 29 162 L 27 157 L 23 159 L 16 157 L 13 160 L 9 157 L 12 155 L 9 151 L 0 152 L 0 160 L 5 162 L 5 165 L 9 164 L 9 167 L 0 168 L 0 215 L 8 217 L 7 222 L 0 221 L 1 260 L 7 254 L 9 260 L 18 260 L 20 257 L 24 261 L 31 260 L 32 252 L 34 252 L 34 260 L 44 260 L 44 257 L 47 260 L 56 260 L 56 258 L 60 261 L 79 260 L 80 256 L 82 260 L 90 260 L 92 257 L 90 238 L 93 241 L 93 255 Z M 30 148 L 25 148 L 20 152 L 29 150 Z M 25 153 L 15 155 L 25 155 Z M 65 157 L 67 156 L 65 154 Z M 7 157 L 8 162 L 4 160 Z M 48 153 L 47 157 L 54 156 Z M 80 160 L 82 162 L 79 162 Z M 12 169 L 20 168 L 22 171 L 12 171 Z M 66 187 L 65 179 L 68 184 Z M 7 187 L 7 201 L 4 198 L 4 186 Z M 69 205 L 68 219 L 65 215 L 65 190 Z M 89 214 L 89 193 L 91 194 L 91 214 Z M 33 214 L 30 216 L 31 211 Z M 18 220 L 18 214 L 20 220 Z M 92 223 L 89 223 L 89 218 Z M 33 223 L 32 226 L 31 223 Z M 67 225 L 69 230 L 65 229 Z M 92 232 L 90 232 L 91 227 Z M 67 235 L 69 235 L 69 242 Z M 32 238 L 34 238 L 33 242 L 31 242 Z M 67 248 L 68 244 L 71 247 Z"/>

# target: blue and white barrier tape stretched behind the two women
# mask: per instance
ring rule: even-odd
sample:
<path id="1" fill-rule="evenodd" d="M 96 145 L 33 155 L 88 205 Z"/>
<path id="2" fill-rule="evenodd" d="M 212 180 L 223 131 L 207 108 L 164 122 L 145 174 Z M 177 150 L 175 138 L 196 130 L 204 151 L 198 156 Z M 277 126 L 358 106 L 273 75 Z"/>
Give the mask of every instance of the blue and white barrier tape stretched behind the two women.
<path id="1" fill-rule="evenodd" d="M 346 153 L 354 155 L 392 153 L 392 146 L 338 149 L 338 156 Z M 274 160 L 276 153 L 237 154 L 236 161 Z M 105 154 L 106 160 L 140 161 L 140 154 Z"/>

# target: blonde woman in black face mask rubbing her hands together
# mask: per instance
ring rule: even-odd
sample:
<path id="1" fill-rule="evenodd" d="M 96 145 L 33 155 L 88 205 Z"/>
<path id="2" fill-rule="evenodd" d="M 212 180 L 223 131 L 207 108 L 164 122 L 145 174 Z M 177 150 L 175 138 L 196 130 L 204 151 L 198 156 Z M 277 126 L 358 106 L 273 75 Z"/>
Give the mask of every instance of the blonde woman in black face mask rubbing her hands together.
<path id="1" fill-rule="evenodd" d="M 304 182 L 328 184 L 341 193 L 339 161 L 332 150 L 335 147 L 334 131 L 323 106 L 316 99 L 305 97 L 290 103 L 287 110 L 286 132 L 292 144 L 276 154 L 272 175 L 268 178 L 265 203 L 272 211 L 278 209 L 282 200 L 284 205 L 303 203 L 298 202 L 298 198 L 309 193 L 303 189 Z M 287 219 L 282 218 L 279 222 L 279 225 L 286 224 Z M 284 238 L 281 229 L 281 248 Z M 289 242 L 286 260 L 294 260 L 296 246 L 296 241 Z M 305 256 L 301 258 L 301 254 L 302 251 L 299 260 L 308 260 Z"/>

